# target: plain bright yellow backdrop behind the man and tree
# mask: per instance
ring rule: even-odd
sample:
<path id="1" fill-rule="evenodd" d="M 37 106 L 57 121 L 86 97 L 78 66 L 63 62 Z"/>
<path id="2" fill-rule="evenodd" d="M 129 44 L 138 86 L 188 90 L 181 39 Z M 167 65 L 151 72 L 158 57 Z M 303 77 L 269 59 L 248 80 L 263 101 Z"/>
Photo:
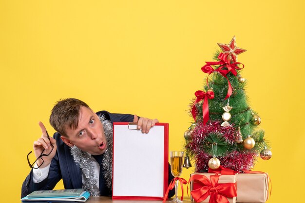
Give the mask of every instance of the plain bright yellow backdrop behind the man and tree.
<path id="1" fill-rule="evenodd" d="M 200 68 L 233 35 L 248 50 L 242 75 L 272 145 L 255 167 L 271 177 L 268 202 L 302 202 L 304 9 L 302 0 L 0 0 L 0 202 L 19 203 L 38 121 L 54 133 L 60 98 L 169 122 L 169 149 L 182 150 Z"/>

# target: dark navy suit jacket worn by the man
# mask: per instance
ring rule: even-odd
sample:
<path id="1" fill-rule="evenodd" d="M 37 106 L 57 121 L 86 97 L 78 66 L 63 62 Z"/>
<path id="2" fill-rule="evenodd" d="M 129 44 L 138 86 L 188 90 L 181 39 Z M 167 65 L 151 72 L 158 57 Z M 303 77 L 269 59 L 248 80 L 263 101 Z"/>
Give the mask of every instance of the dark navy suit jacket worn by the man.
<path id="1" fill-rule="evenodd" d="M 133 115 L 130 114 L 112 114 L 107 111 L 99 111 L 97 115 L 104 115 L 111 122 L 133 122 Z M 21 198 L 35 190 L 53 189 L 60 179 L 63 180 L 65 189 L 81 188 L 81 170 L 73 161 L 70 153 L 70 147 L 67 146 L 60 138 L 59 133 L 55 133 L 53 138 L 56 139 L 57 152 L 52 159 L 48 177 L 40 183 L 34 183 L 32 170 L 26 177 L 21 188 Z M 169 166 L 169 183 L 173 179 L 171 168 Z M 174 195 L 172 190 L 169 197 Z"/>

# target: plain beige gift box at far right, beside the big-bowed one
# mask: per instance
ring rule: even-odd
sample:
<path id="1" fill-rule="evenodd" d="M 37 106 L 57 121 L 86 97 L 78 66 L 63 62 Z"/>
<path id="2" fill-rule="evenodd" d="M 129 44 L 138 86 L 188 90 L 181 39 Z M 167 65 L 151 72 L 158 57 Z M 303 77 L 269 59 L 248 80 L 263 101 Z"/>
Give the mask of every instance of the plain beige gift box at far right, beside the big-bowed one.
<path id="1" fill-rule="evenodd" d="M 237 203 L 265 203 L 268 199 L 266 173 L 237 173 Z"/>

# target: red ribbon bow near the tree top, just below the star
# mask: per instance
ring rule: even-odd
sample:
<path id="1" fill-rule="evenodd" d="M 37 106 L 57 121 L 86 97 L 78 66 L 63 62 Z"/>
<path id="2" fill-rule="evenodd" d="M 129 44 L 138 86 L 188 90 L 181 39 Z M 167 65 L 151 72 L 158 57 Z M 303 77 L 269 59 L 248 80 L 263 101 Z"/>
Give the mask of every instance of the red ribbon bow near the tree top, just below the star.
<path id="1" fill-rule="evenodd" d="M 236 70 L 241 70 L 243 69 L 245 66 L 244 64 L 242 63 L 239 63 L 239 62 L 235 62 L 235 63 L 230 63 L 230 60 L 228 59 L 228 56 L 224 53 L 220 53 L 217 57 L 220 61 L 212 61 L 212 62 L 206 62 L 206 65 L 203 66 L 201 68 L 201 70 L 205 73 L 209 73 L 209 75 L 213 72 L 219 72 L 222 76 L 224 76 L 227 80 L 228 80 L 228 92 L 227 92 L 227 96 L 225 98 L 228 99 L 231 94 L 232 94 L 232 86 L 231 86 L 231 83 L 227 77 L 227 74 L 229 72 L 231 72 L 233 75 L 237 75 L 237 71 Z M 243 68 L 239 68 L 237 65 L 238 64 L 241 64 L 243 65 Z M 217 69 L 214 69 L 212 68 L 211 66 L 216 66 L 216 65 L 221 65 L 219 68 Z M 228 69 L 222 69 L 222 68 L 228 68 Z M 209 78 L 209 75 L 207 77 L 207 85 L 209 87 L 209 83 L 208 83 L 208 78 Z M 210 87 L 209 87 L 210 88 Z"/>

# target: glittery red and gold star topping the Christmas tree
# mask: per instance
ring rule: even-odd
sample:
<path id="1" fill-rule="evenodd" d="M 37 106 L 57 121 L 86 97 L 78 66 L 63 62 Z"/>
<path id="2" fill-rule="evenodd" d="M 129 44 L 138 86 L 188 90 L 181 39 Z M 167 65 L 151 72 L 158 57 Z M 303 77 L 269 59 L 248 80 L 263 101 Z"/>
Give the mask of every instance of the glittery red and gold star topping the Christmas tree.
<path id="1" fill-rule="evenodd" d="M 217 43 L 218 46 L 221 48 L 221 50 L 224 52 L 224 54 L 226 54 L 226 56 L 228 57 L 228 59 L 230 60 L 230 62 L 237 62 L 237 55 L 241 54 L 247 50 L 241 49 L 239 47 L 236 47 L 236 40 L 235 40 L 235 36 L 233 36 L 233 38 L 231 39 L 229 44 L 220 44 Z"/>

